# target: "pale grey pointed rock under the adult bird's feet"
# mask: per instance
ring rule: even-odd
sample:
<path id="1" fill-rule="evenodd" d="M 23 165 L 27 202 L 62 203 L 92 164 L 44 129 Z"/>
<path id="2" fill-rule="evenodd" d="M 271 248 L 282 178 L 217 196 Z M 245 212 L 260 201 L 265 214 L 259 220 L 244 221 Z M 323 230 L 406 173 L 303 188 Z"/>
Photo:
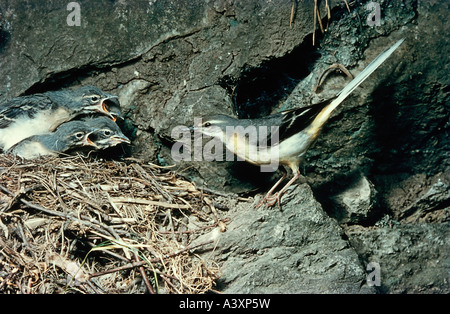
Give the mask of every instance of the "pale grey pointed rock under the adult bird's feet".
<path id="1" fill-rule="evenodd" d="M 369 293 L 366 271 L 343 231 L 307 184 L 282 198 L 281 210 L 239 203 L 218 240 L 224 293 Z M 205 253 L 209 254 L 209 252 Z"/>

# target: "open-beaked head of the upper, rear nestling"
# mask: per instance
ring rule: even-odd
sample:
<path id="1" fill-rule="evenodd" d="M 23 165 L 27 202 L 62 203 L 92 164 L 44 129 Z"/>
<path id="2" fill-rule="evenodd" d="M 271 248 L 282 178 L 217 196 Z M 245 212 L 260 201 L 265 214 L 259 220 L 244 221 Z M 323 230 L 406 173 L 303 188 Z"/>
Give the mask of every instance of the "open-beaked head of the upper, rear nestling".
<path id="1" fill-rule="evenodd" d="M 117 96 L 105 93 L 95 86 L 83 86 L 71 92 L 70 107 L 82 114 L 102 113 L 114 121 L 123 119 Z"/>

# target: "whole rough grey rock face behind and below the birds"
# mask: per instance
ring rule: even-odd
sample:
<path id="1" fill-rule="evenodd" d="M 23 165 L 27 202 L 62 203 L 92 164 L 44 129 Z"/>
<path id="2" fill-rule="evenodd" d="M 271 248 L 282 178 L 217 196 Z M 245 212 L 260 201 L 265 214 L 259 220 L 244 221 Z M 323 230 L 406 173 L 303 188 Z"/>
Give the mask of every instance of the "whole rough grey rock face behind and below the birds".
<path id="1" fill-rule="evenodd" d="M 307 184 L 291 189 L 281 210 L 225 201 L 231 222 L 214 253 L 223 266 L 218 287 L 448 293 L 449 4 L 370 9 L 359 1 L 349 13 L 344 1 L 328 2 L 332 19 L 323 18 L 327 31 L 317 31 L 313 47 L 313 1 L 80 0 L 80 26 L 70 26 L 77 12 L 69 1 L 0 0 L 0 102 L 97 85 L 119 95 L 132 155 L 172 164 L 175 126 L 334 96 L 347 82 L 339 73 L 315 89 L 328 66 L 357 74 L 405 37 L 330 119 L 306 155 Z M 275 179 L 242 162 L 178 166 L 222 192 L 265 191 Z M 372 262 L 381 270 L 375 287 L 366 282 Z"/>

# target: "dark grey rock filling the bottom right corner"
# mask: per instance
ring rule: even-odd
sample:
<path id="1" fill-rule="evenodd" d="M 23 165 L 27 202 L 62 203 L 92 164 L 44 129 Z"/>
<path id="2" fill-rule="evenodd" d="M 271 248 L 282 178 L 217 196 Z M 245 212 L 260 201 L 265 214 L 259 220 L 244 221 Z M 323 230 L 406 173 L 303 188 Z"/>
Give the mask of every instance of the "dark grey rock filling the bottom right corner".
<path id="1" fill-rule="evenodd" d="M 450 226 L 398 225 L 347 231 L 362 260 L 380 265 L 383 293 L 450 292 Z"/>

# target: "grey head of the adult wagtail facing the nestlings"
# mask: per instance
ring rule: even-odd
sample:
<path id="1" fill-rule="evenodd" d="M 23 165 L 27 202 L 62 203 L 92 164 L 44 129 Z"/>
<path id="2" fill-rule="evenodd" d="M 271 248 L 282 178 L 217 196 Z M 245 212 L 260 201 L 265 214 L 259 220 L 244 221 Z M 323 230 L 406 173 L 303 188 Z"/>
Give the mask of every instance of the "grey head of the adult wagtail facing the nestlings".
<path id="1" fill-rule="evenodd" d="M 223 139 L 225 137 L 227 127 L 236 126 L 236 120 L 237 119 L 225 114 L 214 114 L 204 116 L 201 120 L 196 121 L 194 126 L 190 129 L 193 131 L 201 132 L 208 136 L 214 136 Z"/>

